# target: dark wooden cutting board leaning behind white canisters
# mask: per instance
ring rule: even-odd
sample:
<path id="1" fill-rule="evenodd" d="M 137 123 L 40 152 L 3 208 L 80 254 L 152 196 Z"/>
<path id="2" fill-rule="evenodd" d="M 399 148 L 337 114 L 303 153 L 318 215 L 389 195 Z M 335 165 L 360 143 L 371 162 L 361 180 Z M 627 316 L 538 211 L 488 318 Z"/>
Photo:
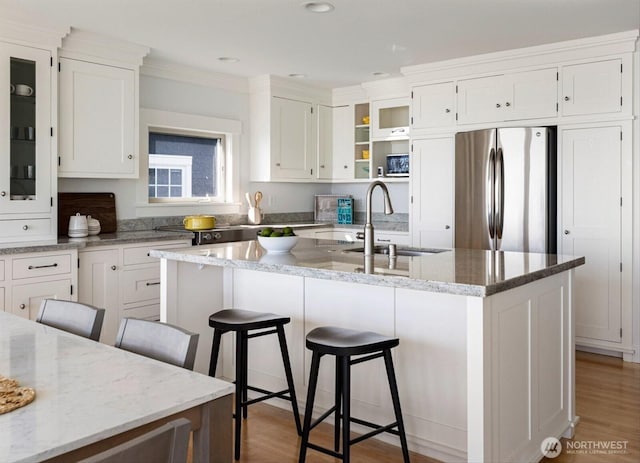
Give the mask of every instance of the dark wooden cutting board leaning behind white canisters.
<path id="1" fill-rule="evenodd" d="M 116 220 L 116 195 L 113 193 L 58 193 L 58 235 L 69 231 L 69 217 L 90 215 L 100 221 L 100 233 L 114 233 Z"/>

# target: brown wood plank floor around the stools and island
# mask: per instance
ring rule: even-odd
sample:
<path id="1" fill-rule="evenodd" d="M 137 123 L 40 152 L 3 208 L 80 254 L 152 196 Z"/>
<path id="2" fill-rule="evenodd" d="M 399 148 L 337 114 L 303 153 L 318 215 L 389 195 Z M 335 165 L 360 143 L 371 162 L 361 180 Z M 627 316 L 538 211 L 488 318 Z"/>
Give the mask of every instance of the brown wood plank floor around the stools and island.
<path id="1" fill-rule="evenodd" d="M 576 408 L 581 418 L 574 442 L 626 441 L 621 455 L 563 453 L 553 463 L 638 463 L 640 462 L 640 365 L 620 359 L 578 352 L 576 354 Z M 321 424 L 313 441 L 329 445 L 333 427 Z M 243 424 L 242 463 L 296 463 L 300 441 L 290 412 L 265 404 L 249 407 Z M 563 440 L 563 449 L 566 441 Z M 310 450 L 309 463 L 338 460 Z M 369 439 L 352 447 L 354 463 L 402 461 L 398 447 Z M 412 463 L 436 460 L 415 453 Z M 510 462 L 518 463 L 518 462 Z"/>

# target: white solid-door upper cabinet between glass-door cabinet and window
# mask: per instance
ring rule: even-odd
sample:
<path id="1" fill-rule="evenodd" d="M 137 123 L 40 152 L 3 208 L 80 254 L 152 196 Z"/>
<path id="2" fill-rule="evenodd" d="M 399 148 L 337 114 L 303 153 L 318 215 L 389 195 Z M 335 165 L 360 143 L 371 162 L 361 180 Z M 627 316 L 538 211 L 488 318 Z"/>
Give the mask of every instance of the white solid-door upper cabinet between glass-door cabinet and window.
<path id="1" fill-rule="evenodd" d="M 138 177 L 139 67 L 148 51 L 79 31 L 64 39 L 59 177 Z"/>

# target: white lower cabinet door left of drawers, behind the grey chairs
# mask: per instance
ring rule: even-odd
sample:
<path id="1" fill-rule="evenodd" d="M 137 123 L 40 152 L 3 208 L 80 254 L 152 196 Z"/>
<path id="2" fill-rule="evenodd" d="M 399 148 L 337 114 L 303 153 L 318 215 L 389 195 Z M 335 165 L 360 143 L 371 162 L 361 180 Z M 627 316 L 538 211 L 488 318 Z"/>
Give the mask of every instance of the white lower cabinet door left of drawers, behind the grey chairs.
<path id="1" fill-rule="evenodd" d="M 118 317 L 117 249 L 79 253 L 78 302 L 105 309 L 100 341 L 113 345 L 120 323 Z"/>

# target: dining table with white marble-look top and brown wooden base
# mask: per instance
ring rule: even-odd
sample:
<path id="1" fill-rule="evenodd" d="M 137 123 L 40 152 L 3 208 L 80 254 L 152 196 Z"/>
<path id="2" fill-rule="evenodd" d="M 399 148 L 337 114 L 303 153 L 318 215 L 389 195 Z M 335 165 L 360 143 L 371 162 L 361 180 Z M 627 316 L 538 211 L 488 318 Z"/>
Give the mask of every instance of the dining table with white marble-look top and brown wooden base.
<path id="1" fill-rule="evenodd" d="M 35 390 L 0 414 L 0 462 L 70 462 L 179 417 L 193 461 L 232 461 L 233 384 L 0 311 L 0 376 Z"/>

